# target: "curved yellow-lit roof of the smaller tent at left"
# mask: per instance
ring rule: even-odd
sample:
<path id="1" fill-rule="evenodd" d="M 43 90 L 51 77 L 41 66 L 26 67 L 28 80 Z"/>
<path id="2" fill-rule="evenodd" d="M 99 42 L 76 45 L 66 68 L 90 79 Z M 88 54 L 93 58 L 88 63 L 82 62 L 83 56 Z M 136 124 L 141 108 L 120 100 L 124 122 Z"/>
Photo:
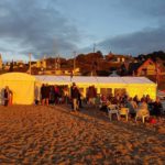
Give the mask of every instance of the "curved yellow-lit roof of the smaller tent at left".
<path id="1" fill-rule="evenodd" d="M 35 81 L 35 77 L 31 76 L 29 74 L 24 74 L 24 73 L 8 73 L 8 74 L 0 75 L 0 80 L 8 80 L 8 81 L 33 80 L 33 81 Z"/>

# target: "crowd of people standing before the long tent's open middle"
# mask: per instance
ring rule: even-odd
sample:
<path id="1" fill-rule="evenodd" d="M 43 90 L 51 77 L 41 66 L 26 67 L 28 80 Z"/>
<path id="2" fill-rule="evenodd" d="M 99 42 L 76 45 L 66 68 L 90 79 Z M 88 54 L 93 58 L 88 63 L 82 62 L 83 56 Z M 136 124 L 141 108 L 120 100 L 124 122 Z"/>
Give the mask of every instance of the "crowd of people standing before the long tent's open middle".
<path id="1" fill-rule="evenodd" d="M 43 106 L 48 106 L 50 103 L 70 103 L 73 111 L 78 111 L 82 108 L 82 100 L 94 106 L 96 98 L 97 91 L 95 86 L 89 86 L 86 98 L 82 97 L 80 89 L 75 82 L 73 82 L 70 91 L 67 86 L 48 86 L 43 84 L 41 87 L 41 103 Z"/>

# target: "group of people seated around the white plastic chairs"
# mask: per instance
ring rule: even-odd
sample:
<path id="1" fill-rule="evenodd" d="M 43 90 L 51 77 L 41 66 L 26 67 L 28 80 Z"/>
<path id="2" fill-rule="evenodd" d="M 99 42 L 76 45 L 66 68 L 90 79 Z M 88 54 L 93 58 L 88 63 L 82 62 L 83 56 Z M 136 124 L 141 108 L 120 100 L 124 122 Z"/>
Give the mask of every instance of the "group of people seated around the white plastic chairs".
<path id="1" fill-rule="evenodd" d="M 153 101 L 148 95 L 143 96 L 139 99 L 138 96 L 129 97 L 128 95 L 116 95 L 114 97 L 105 95 L 101 96 L 102 107 L 100 110 L 107 111 L 109 105 L 117 105 L 120 108 L 129 108 L 129 113 L 131 117 L 135 117 L 138 111 L 143 110 L 148 116 L 161 117 L 163 112 L 163 106 L 160 98 Z"/>

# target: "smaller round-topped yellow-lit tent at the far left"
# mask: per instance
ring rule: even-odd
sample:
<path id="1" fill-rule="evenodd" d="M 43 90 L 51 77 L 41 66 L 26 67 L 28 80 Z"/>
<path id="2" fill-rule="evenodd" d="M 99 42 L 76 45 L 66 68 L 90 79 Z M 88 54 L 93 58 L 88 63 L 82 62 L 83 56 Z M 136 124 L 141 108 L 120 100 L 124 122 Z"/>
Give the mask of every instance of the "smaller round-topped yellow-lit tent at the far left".
<path id="1" fill-rule="evenodd" d="M 9 86 L 13 94 L 13 105 L 32 105 L 34 102 L 35 77 L 23 73 L 8 73 L 0 75 L 1 105 L 3 91 Z"/>

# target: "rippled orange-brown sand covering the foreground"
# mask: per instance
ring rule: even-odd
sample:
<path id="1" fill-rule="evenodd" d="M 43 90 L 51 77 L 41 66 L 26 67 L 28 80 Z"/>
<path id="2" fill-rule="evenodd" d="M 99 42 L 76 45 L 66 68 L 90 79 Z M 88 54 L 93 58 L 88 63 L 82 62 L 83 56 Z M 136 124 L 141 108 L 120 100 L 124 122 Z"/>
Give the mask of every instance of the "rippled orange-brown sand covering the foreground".
<path id="1" fill-rule="evenodd" d="M 66 106 L 0 107 L 0 164 L 165 164 L 165 122 L 110 122 Z"/>

